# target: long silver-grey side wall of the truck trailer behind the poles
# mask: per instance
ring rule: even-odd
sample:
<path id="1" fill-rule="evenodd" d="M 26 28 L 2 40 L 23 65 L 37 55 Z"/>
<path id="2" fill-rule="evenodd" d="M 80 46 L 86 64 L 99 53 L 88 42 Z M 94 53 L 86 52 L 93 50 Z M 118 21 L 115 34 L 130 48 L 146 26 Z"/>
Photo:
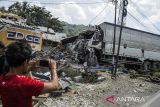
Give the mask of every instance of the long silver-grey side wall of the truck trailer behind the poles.
<path id="1" fill-rule="evenodd" d="M 103 52 L 112 55 L 113 30 L 114 24 L 102 23 L 100 28 L 104 32 L 104 47 Z M 116 31 L 116 50 L 119 37 L 119 28 L 117 25 Z M 122 42 L 120 48 L 120 56 L 143 59 L 142 50 L 144 50 L 144 60 L 159 60 L 160 61 L 160 35 L 152 34 L 136 30 L 133 28 L 123 27 Z M 115 51 L 116 52 L 116 51 Z"/>

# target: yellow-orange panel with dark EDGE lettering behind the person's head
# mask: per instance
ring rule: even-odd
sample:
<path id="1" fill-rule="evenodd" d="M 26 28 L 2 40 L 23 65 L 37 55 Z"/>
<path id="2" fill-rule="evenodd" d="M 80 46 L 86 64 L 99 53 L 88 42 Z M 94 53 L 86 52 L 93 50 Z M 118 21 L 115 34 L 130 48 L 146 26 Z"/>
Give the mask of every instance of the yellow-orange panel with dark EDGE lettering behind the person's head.
<path id="1" fill-rule="evenodd" d="M 6 46 L 15 41 L 26 41 L 33 51 L 41 51 L 42 33 L 36 29 L 17 25 L 3 25 L 0 30 L 0 41 Z"/>

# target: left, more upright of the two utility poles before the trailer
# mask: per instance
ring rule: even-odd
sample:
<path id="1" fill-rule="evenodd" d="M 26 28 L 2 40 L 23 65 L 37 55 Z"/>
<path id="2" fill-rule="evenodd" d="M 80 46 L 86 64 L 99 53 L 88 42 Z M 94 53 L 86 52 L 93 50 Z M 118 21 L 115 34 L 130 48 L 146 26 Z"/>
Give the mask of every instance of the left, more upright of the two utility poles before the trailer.
<path id="1" fill-rule="evenodd" d="M 114 36 L 113 36 L 113 54 L 112 54 L 112 77 L 115 71 L 115 43 L 116 43 L 116 23 L 117 23 L 117 0 L 113 1 L 115 3 L 115 15 L 114 15 Z"/>

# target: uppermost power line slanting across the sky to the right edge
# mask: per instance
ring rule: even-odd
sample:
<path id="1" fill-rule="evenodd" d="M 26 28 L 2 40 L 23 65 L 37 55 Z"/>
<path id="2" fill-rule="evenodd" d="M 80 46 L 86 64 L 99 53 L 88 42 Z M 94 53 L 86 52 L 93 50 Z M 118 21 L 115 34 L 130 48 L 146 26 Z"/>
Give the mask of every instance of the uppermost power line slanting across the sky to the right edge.
<path id="1" fill-rule="evenodd" d="M 130 1 L 131 1 L 131 0 L 130 0 Z M 147 19 L 147 20 L 151 23 L 151 25 L 152 25 L 157 31 L 160 32 L 160 29 L 159 29 L 155 24 L 153 24 L 152 21 L 149 20 L 148 17 L 147 17 L 145 14 L 143 14 L 143 13 L 140 11 L 140 8 L 139 8 L 134 2 L 131 1 L 131 3 L 136 7 L 136 10 L 138 11 L 138 13 L 141 14 L 141 16 L 142 16 L 143 18 Z"/>

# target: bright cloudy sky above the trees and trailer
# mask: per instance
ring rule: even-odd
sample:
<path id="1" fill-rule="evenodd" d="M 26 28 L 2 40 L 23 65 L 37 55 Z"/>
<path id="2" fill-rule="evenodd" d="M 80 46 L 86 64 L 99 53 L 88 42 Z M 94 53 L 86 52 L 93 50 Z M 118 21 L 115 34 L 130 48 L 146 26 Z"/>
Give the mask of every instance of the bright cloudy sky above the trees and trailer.
<path id="1" fill-rule="evenodd" d="M 0 0 L 6 8 L 14 1 Z M 31 5 L 44 6 L 54 17 L 71 24 L 100 24 L 114 22 L 111 0 L 26 0 Z M 128 0 L 126 26 L 160 34 L 160 0 Z M 52 4 L 44 4 L 52 3 Z M 54 4 L 56 3 L 56 4 Z M 81 4 L 82 3 L 82 4 Z M 86 3 L 86 4 L 83 4 Z M 89 4 L 93 3 L 93 4 Z M 157 30 L 159 29 L 159 31 Z"/>

